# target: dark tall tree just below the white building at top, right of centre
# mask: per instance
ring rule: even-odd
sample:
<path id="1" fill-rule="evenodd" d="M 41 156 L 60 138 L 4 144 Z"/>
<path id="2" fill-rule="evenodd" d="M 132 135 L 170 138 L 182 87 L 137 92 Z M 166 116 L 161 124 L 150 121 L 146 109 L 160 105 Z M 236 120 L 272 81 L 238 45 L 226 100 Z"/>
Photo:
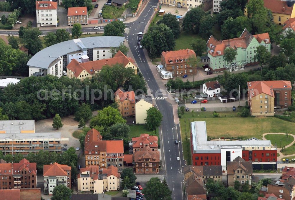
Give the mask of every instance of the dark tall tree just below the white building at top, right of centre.
<path id="1" fill-rule="evenodd" d="M 188 11 L 182 22 L 183 30 L 192 31 L 195 34 L 199 33 L 200 21 L 204 15 L 204 10 L 199 6 Z"/>

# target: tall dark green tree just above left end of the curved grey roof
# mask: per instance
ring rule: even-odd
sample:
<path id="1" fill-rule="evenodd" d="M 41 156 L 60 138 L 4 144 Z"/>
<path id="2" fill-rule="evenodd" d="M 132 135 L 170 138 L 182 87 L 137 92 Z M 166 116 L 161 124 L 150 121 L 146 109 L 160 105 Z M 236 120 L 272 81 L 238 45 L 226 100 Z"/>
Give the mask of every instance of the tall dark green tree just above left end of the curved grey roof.
<path id="1" fill-rule="evenodd" d="M 22 36 L 24 46 L 29 49 L 29 53 L 34 55 L 39 52 L 42 47 L 40 35 L 42 34 L 38 28 L 25 29 Z"/>

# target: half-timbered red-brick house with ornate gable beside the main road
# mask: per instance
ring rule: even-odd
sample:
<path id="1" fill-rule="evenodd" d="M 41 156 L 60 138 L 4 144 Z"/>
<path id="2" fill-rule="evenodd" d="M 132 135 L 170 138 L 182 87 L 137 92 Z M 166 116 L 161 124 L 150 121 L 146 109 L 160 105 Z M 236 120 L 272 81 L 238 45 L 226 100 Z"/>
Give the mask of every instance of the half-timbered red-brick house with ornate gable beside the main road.
<path id="1" fill-rule="evenodd" d="M 159 173 L 160 152 L 148 146 L 134 153 L 135 173 Z"/>

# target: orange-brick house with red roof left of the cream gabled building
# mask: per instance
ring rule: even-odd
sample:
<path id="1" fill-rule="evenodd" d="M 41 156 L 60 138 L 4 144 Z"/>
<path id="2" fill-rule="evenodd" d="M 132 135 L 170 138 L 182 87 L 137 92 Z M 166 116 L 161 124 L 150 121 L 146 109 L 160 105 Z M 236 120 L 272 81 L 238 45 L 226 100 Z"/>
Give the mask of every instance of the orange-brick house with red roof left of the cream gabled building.
<path id="1" fill-rule="evenodd" d="M 134 91 L 125 92 L 118 89 L 115 93 L 115 102 L 118 104 L 118 109 L 123 117 L 135 115 L 135 93 Z"/>

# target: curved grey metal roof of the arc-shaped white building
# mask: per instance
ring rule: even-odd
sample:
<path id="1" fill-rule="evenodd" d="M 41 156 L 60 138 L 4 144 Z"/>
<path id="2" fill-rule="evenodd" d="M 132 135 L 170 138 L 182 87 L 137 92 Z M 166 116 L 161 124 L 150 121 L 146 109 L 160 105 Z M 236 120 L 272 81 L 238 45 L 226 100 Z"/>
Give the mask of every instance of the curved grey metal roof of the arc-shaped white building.
<path id="1" fill-rule="evenodd" d="M 124 39 L 125 37 L 118 36 L 98 36 L 60 42 L 39 51 L 29 60 L 27 65 L 48 69 L 49 65 L 58 57 L 81 50 L 82 47 L 86 47 L 87 49 L 118 47 L 122 42 L 124 42 Z"/>

